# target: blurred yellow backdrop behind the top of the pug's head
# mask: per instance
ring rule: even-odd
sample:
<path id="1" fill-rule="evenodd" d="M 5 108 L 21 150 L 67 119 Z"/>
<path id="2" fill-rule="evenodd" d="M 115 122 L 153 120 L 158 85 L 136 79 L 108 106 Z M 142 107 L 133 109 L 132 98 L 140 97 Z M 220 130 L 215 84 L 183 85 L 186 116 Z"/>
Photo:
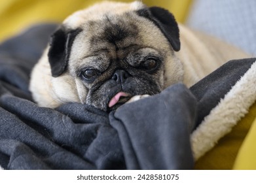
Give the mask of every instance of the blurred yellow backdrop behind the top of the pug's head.
<path id="1" fill-rule="evenodd" d="M 0 1 L 0 41 L 39 22 L 62 22 L 69 14 L 101 0 L 8 0 Z M 149 6 L 173 11 L 179 22 L 185 20 L 192 0 L 145 0 Z M 122 2 L 132 2 L 122 0 Z"/>

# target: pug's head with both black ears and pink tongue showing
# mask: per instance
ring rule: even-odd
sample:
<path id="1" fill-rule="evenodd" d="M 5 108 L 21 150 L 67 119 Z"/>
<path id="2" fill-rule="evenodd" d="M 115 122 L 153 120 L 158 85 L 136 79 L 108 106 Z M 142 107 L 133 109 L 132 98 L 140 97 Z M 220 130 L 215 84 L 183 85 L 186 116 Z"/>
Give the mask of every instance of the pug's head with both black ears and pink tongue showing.
<path id="1" fill-rule="evenodd" d="M 177 23 L 167 10 L 101 3 L 73 14 L 52 35 L 52 88 L 62 101 L 78 98 L 113 110 L 134 95 L 153 95 L 182 80 L 174 56 L 179 44 Z"/>

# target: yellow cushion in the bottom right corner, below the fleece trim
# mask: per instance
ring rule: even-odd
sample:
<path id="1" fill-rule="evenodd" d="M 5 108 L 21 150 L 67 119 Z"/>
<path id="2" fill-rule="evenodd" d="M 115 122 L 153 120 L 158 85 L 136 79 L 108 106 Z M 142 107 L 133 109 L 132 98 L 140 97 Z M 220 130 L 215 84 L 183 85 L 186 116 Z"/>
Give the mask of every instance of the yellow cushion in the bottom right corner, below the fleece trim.
<path id="1" fill-rule="evenodd" d="M 247 135 L 247 132 L 249 131 L 251 124 L 253 121 L 255 121 L 256 118 L 256 103 L 249 109 L 249 112 L 246 114 L 240 122 L 232 129 L 232 131 L 225 135 L 218 143 L 217 145 L 211 149 L 209 152 L 207 152 L 202 158 L 198 159 L 196 161 L 195 169 L 233 169 L 234 161 L 236 159 L 236 156 L 238 154 L 238 150 L 240 150 L 241 145 L 244 142 L 244 139 Z M 255 124 L 256 125 L 256 124 Z M 254 127 L 254 140 L 255 140 L 255 134 L 256 134 L 256 127 Z M 251 135 L 252 136 L 252 135 Z M 247 142 L 245 142 L 246 145 L 244 147 L 244 150 L 240 154 L 239 160 L 236 160 L 236 165 L 234 168 L 240 169 L 244 168 L 244 164 L 241 161 L 244 161 L 245 158 L 249 158 L 249 155 L 253 155 L 256 152 L 256 148 L 253 144 L 253 138 L 251 140 L 248 139 Z M 254 151 L 251 149 L 254 146 Z M 244 146 L 244 144 L 243 144 Z M 249 147 L 249 148 L 248 148 Z M 249 159 L 251 159 L 251 156 Z M 247 159 L 248 161 L 250 161 Z M 254 158 L 255 161 L 256 158 Z M 251 161 L 253 162 L 253 161 Z M 256 163 L 254 163 L 254 166 Z"/>

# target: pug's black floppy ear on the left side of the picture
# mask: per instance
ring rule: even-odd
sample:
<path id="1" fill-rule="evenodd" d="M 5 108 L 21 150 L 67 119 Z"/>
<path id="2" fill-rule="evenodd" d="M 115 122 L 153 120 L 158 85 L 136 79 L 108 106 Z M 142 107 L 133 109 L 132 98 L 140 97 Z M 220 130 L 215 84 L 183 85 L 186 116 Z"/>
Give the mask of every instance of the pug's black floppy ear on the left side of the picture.
<path id="1" fill-rule="evenodd" d="M 69 60 L 71 46 L 80 31 L 81 29 L 66 30 L 65 27 L 60 27 L 52 35 L 48 52 L 52 76 L 58 77 L 64 73 Z"/>

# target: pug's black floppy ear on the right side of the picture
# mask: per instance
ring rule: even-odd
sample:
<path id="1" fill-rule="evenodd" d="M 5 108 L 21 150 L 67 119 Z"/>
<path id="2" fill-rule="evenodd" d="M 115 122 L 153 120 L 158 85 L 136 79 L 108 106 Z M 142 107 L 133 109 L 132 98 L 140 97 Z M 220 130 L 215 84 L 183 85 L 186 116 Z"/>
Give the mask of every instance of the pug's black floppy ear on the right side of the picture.
<path id="1" fill-rule="evenodd" d="M 179 27 L 174 15 L 164 8 L 151 7 L 138 10 L 139 16 L 144 16 L 151 20 L 168 39 L 172 48 L 177 52 L 181 48 L 179 41 Z"/>

